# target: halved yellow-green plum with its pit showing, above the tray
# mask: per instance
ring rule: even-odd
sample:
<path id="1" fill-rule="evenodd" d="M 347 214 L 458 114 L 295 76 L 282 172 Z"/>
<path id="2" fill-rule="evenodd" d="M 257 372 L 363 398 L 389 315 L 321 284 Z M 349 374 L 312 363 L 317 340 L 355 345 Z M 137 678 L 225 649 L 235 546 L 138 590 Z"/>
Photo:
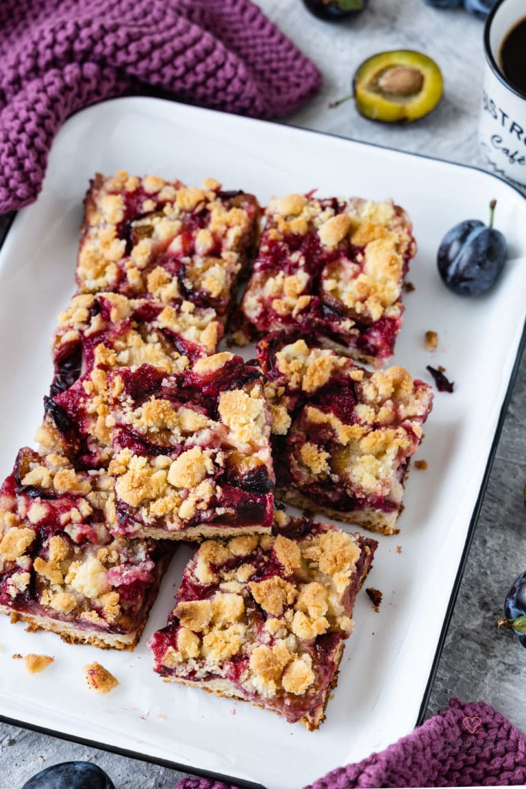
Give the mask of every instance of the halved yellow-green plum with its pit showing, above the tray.
<path id="1" fill-rule="evenodd" d="M 442 98 L 442 72 L 421 52 L 381 52 L 360 65 L 353 89 L 356 107 L 365 118 L 386 123 L 416 121 Z"/>

